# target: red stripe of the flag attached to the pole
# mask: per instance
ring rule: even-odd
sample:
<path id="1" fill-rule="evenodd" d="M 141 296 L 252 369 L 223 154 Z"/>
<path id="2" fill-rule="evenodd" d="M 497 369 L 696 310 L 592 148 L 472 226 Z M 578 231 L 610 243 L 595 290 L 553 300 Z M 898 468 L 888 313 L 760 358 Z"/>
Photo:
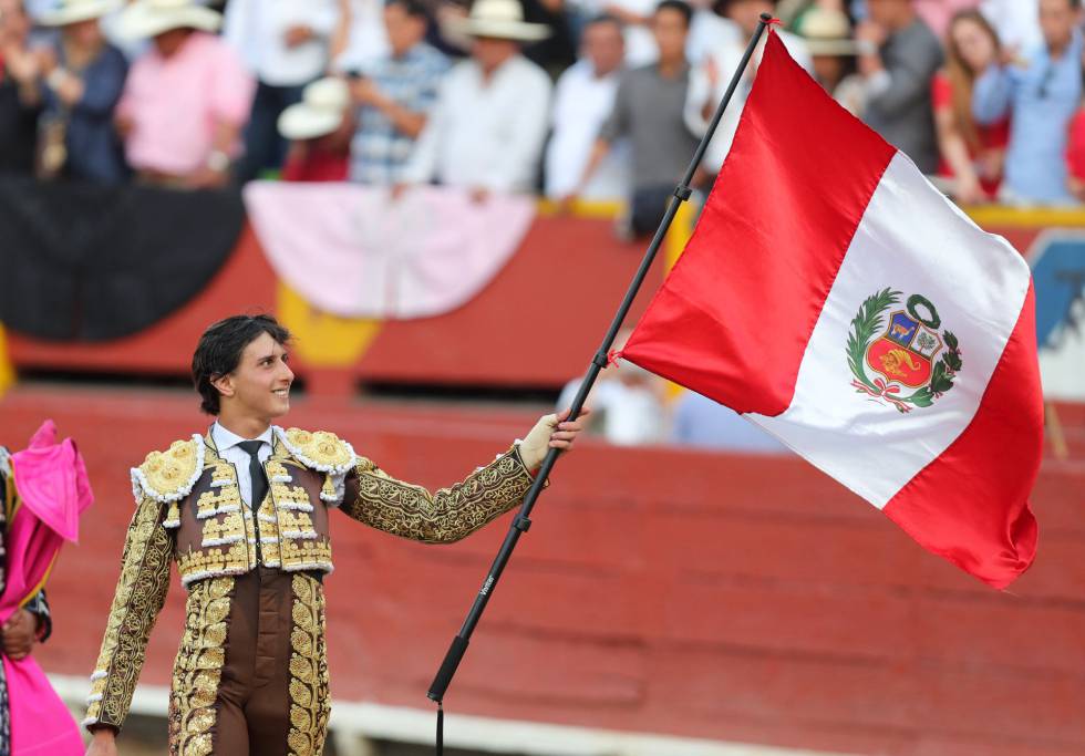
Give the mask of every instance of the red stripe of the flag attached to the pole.
<path id="1" fill-rule="evenodd" d="M 693 237 L 622 356 L 738 412 L 783 413 L 895 154 L 827 97 L 771 32 Z"/>

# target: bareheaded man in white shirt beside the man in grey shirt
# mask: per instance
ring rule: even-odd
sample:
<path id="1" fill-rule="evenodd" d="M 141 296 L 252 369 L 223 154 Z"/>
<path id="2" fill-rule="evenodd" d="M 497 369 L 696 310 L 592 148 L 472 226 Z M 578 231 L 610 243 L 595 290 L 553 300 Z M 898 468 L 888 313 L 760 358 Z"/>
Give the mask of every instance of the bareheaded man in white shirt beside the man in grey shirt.
<path id="1" fill-rule="evenodd" d="M 592 19 L 583 29 L 581 59 L 561 74 L 554 93 L 554 132 L 546 151 L 546 196 L 572 194 L 583 175 L 599 127 L 610 115 L 622 70 L 621 22 Z M 618 200 L 629 194 L 629 145 L 616 145 L 580 193 L 582 199 Z"/>

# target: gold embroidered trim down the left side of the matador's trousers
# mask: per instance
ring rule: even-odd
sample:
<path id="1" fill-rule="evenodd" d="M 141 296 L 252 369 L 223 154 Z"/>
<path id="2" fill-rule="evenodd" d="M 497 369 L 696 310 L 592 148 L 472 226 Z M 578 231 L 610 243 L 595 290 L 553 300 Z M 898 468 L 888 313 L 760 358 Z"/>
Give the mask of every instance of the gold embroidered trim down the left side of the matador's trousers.
<path id="1" fill-rule="evenodd" d="M 169 691 L 169 753 L 208 756 L 214 750 L 211 728 L 226 663 L 226 633 L 234 578 L 200 580 L 188 592 L 185 634 L 174 664 Z"/>

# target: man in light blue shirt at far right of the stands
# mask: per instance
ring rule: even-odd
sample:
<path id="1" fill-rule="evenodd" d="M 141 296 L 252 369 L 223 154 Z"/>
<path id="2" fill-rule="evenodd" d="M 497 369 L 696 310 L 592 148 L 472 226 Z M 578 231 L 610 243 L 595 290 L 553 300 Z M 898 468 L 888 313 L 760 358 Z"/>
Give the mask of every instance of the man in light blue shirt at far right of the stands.
<path id="1" fill-rule="evenodd" d="M 980 124 L 1010 115 L 1003 201 L 1074 203 L 1067 185 L 1066 142 L 1082 99 L 1079 0 L 1040 0 L 1044 43 L 1024 62 L 992 65 L 975 81 L 972 112 Z"/>

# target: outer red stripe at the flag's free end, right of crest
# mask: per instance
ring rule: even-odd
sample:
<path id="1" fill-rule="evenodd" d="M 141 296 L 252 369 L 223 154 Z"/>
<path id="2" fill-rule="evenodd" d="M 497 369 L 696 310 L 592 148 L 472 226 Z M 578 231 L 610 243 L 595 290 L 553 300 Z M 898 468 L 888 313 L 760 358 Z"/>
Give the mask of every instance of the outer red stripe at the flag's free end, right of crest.
<path id="1" fill-rule="evenodd" d="M 972 422 L 885 508 L 926 549 L 994 588 L 1013 582 L 1036 556 L 1029 494 L 1043 456 L 1042 396 L 1030 283 Z"/>

